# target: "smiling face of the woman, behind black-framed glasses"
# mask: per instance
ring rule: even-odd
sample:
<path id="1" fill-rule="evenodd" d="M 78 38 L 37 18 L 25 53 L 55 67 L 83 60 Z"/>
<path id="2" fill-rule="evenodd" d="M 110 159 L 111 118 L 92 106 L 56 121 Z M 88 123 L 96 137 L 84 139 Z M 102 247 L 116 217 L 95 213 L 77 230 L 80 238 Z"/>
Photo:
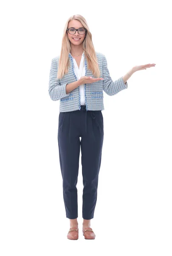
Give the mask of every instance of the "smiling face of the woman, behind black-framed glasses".
<path id="1" fill-rule="evenodd" d="M 78 20 L 69 21 L 68 29 L 80 29 L 80 28 L 84 29 L 84 27 L 82 26 L 82 23 L 80 23 L 80 21 L 78 21 Z M 79 34 L 78 31 L 76 31 L 75 34 L 69 34 L 69 32 L 67 32 L 67 33 L 68 33 L 69 41 L 71 42 L 71 44 L 74 44 L 74 45 L 82 44 L 82 42 L 84 41 L 85 35 L 86 35 L 86 32 L 85 32 L 85 34 Z M 73 38 L 79 38 L 79 40 L 76 41 Z"/>

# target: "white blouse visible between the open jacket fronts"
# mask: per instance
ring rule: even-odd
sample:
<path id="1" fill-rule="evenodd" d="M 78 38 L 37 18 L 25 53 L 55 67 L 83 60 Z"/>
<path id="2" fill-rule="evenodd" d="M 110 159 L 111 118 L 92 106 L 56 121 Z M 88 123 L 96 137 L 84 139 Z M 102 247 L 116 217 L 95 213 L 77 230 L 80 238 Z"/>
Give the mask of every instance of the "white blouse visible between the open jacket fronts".
<path id="1" fill-rule="evenodd" d="M 74 72 L 75 72 L 75 75 L 77 77 L 77 80 L 79 80 L 82 76 L 85 76 L 85 54 L 84 54 L 84 52 L 82 53 L 82 57 L 81 57 L 81 62 L 80 62 L 79 68 L 78 68 L 78 65 L 76 63 L 76 59 L 73 58 L 73 68 L 74 68 Z M 84 87 L 85 87 L 85 84 L 79 85 L 81 105 L 85 105 Z"/>

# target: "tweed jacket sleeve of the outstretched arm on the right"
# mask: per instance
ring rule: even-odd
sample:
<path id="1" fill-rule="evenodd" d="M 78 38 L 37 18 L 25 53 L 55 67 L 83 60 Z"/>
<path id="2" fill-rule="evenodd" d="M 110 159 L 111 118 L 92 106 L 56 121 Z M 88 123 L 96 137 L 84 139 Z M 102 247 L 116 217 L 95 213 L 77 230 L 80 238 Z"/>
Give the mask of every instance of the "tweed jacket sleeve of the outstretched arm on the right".
<path id="1" fill-rule="evenodd" d="M 120 77 L 118 80 L 113 81 L 110 77 L 109 70 L 107 68 L 107 60 L 106 57 L 103 55 L 103 90 L 107 95 L 113 96 L 116 93 L 120 92 L 121 90 L 127 89 L 128 84 L 127 82 L 124 84 L 124 80 Z"/>

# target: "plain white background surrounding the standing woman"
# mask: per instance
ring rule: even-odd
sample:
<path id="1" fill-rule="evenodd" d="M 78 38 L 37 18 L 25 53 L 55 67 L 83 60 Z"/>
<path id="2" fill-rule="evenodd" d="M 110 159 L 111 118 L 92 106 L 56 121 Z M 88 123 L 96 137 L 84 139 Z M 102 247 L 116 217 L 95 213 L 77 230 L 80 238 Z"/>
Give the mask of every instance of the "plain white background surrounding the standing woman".
<path id="1" fill-rule="evenodd" d="M 0 255 L 172 255 L 172 81 L 169 1 L 8 1 L 1 5 Z M 87 20 L 113 81 L 135 65 L 128 88 L 104 93 L 104 144 L 91 227 L 67 239 L 57 141 L 59 101 L 48 94 L 71 15 Z"/>

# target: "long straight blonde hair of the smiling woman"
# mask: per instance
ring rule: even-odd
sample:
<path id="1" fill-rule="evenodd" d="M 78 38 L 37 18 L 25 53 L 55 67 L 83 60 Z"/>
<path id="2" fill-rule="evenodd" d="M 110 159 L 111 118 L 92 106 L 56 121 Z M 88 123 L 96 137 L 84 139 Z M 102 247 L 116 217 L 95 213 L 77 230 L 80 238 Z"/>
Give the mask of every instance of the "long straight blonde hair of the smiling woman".
<path id="1" fill-rule="evenodd" d="M 68 73 L 68 68 L 70 67 L 69 53 L 71 50 L 70 41 L 68 38 L 68 23 L 70 20 L 78 20 L 82 23 L 82 26 L 87 29 L 85 39 L 82 43 L 83 50 L 85 52 L 85 58 L 87 58 L 87 69 L 91 70 L 95 78 L 100 77 L 99 63 L 97 61 L 96 52 L 92 42 L 92 35 L 87 25 L 85 18 L 82 15 L 71 16 L 65 24 L 63 38 L 62 38 L 62 48 L 59 56 L 59 66 L 57 72 L 57 79 L 61 79 L 66 73 Z"/>

